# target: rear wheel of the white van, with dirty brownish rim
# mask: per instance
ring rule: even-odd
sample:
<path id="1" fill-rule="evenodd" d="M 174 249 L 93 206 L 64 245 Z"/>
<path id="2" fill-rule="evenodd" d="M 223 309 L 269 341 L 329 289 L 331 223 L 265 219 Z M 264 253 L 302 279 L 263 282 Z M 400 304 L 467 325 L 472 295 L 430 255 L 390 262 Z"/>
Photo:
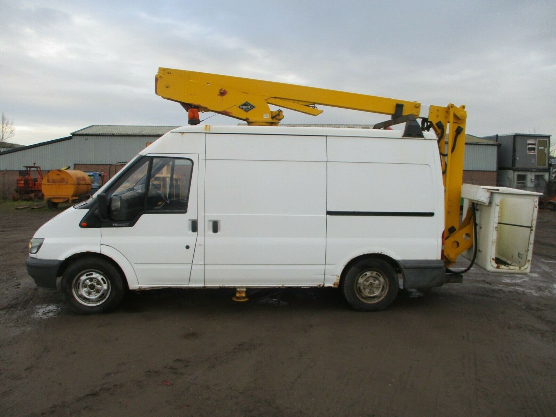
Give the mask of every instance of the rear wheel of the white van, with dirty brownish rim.
<path id="1" fill-rule="evenodd" d="M 398 294 L 398 275 L 381 259 L 362 259 L 350 267 L 341 282 L 347 303 L 365 312 L 384 310 Z"/>

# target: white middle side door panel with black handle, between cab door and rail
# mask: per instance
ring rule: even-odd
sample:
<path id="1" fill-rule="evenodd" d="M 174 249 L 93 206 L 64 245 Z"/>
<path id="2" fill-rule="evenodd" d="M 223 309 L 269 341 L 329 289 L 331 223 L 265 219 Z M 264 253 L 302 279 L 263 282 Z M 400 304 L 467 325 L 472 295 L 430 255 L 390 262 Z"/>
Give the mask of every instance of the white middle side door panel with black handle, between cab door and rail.
<path id="1" fill-rule="evenodd" d="M 207 133 L 206 184 L 205 285 L 322 285 L 326 137 Z"/>

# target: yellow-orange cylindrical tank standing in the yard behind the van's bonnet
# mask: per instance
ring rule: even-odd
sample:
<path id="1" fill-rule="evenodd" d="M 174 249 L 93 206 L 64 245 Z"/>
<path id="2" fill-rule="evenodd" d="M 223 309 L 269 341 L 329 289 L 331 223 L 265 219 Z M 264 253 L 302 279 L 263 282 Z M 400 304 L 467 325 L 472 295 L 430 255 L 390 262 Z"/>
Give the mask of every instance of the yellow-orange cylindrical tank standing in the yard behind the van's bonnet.
<path id="1" fill-rule="evenodd" d="M 59 203 L 71 203 L 91 192 L 91 178 L 83 171 L 54 169 L 42 180 L 42 192 L 48 208 Z"/>

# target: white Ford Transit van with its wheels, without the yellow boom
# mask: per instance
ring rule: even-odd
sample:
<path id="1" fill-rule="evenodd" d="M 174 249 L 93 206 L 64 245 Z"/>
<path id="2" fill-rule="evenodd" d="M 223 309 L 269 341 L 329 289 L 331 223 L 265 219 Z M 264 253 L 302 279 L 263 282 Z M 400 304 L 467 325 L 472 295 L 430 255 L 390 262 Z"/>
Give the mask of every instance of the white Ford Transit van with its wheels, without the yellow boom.
<path id="1" fill-rule="evenodd" d="M 359 310 L 445 283 L 433 133 L 197 125 L 168 132 L 37 230 L 27 271 L 77 313 L 125 289 L 340 287 Z M 61 277 L 61 279 L 59 279 Z"/>

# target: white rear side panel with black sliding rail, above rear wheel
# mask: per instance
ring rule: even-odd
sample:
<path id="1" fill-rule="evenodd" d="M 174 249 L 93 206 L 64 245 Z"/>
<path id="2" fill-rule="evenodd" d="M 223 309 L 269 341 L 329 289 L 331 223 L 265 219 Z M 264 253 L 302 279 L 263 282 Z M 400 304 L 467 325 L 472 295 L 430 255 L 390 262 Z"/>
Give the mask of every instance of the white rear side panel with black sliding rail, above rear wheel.
<path id="1" fill-rule="evenodd" d="M 361 254 L 440 259 L 444 208 L 435 147 L 423 139 L 328 137 L 325 285 Z"/>

